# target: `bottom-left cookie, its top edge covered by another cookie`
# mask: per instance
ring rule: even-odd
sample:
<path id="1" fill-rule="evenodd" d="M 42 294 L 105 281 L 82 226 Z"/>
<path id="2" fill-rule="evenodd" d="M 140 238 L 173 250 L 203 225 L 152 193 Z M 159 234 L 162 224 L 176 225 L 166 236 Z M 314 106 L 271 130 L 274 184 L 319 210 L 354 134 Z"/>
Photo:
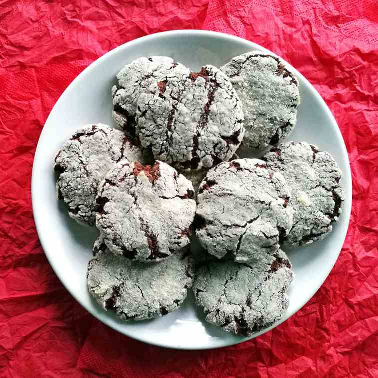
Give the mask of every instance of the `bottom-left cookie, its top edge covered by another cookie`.
<path id="1" fill-rule="evenodd" d="M 99 242 L 89 261 L 89 292 L 105 310 L 122 319 L 144 320 L 177 309 L 192 286 L 193 269 L 187 250 L 154 264 L 130 261 Z"/>

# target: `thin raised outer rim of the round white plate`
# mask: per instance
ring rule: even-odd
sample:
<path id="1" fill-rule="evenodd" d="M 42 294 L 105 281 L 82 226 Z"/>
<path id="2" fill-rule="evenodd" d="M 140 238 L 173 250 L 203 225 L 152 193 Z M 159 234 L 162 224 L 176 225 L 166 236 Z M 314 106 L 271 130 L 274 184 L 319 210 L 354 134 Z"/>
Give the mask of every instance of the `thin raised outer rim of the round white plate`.
<path id="1" fill-rule="evenodd" d="M 239 42 L 242 41 L 243 43 L 246 42 L 246 43 L 250 44 L 251 50 L 252 49 L 263 50 L 266 53 L 269 53 L 269 54 L 271 54 L 273 56 L 276 56 L 281 61 L 283 61 L 290 69 L 292 69 L 294 71 L 294 73 L 295 73 L 296 76 L 299 76 L 301 78 L 301 80 L 303 80 L 306 83 L 306 85 L 311 90 L 311 92 L 320 101 L 320 103 L 322 105 L 322 108 L 327 113 L 328 117 L 331 120 L 331 123 L 332 123 L 334 129 L 336 130 L 336 135 L 337 135 L 337 138 L 339 139 L 339 142 L 340 142 L 339 144 L 341 146 L 342 154 L 343 154 L 343 157 L 346 158 L 346 162 L 347 162 L 347 166 L 348 166 L 347 171 L 343 172 L 343 176 L 344 176 L 344 179 L 346 180 L 345 181 L 345 183 L 346 183 L 345 187 L 350 188 L 350 191 L 345 190 L 345 201 L 344 201 L 344 207 L 343 207 L 343 213 L 342 213 L 342 216 L 346 217 L 345 220 L 346 220 L 347 225 L 345 226 L 345 229 L 342 231 L 342 233 L 343 233 L 343 237 L 342 237 L 343 240 L 342 240 L 341 248 L 338 251 L 337 257 L 335 258 L 333 264 L 329 267 L 328 272 L 327 272 L 324 280 L 322 280 L 320 282 L 320 284 L 318 285 L 318 287 L 316 288 L 316 290 L 313 291 L 313 293 L 304 301 L 303 304 L 301 304 L 300 306 L 297 306 L 297 307 L 294 308 L 292 314 L 289 317 L 286 318 L 285 316 L 283 316 L 280 320 L 276 321 L 271 326 L 265 327 L 261 331 L 259 331 L 257 333 L 254 333 L 253 335 L 251 335 L 249 337 L 243 337 L 243 338 L 240 338 L 240 340 L 236 340 L 234 342 L 233 341 L 231 341 L 231 342 L 225 342 L 222 345 L 216 345 L 216 346 L 213 346 L 213 345 L 203 345 L 202 347 L 192 347 L 192 346 L 182 346 L 182 345 L 175 346 L 175 345 L 171 345 L 171 344 L 166 345 L 163 342 L 157 342 L 157 341 L 153 341 L 153 340 L 148 340 L 148 338 L 144 338 L 142 336 L 139 337 L 139 336 L 135 336 L 135 335 L 129 335 L 126 332 L 123 332 L 123 331 L 117 329 L 115 326 L 113 326 L 108 321 L 108 318 L 109 318 L 108 316 L 105 317 L 105 318 L 100 318 L 100 316 L 97 315 L 97 313 L 92 312 L 88 308 L 88 306 L 86 306 L 85 304 L 81 303 L 81 301 L 78 299 L 78 297 L 76 296 L 76 294 L 74 292 L 71 292 L 67 288 L 67 286 L 64 283 L 64 279 L 62 277 L 63 274 L 59 273 L 59 269 L 55 268 L 55 263 L 53 262 L 52 254 L 46 252 L 46 250 L 47 250 L 45 248 L 46 241 L 45 241 L 45 237 L 43 236 L 42 221 L 41 221 L 41 218 L 39 217 L 38 211 L 36 209 L 36 201 L 37 201 L 36 200 L 36 195 L 37 195 L 36 194 L 36 191 L 37 191 L 36 190 L 36 185 L 37 185 L 37 183 L 36 183 L 35 177 L 36 177 L 36 174 L 37 174 L 36 173 L 37 168 L 36 168 L 35 161 L 37 160 L 37 157 L 39 156 L 39 153 L 40 153 L 40 151 L 39 151 L 40 148 L 41 148 L 40 144 L 41 144 L 41 139 L 43 137 L 43 133 L 45 131 L 45 126 L 48 124 L 49 119 L 52 117 L 51 114 L 59 106 L 60 102 L 62 102 L 64 100 L 64 98 L 69 95 L 69 93 L 72 90 L 72 87 L 75 85 L 76 81 L 79 81 L 80 79 L 82 79 L 82 77 L 84 77 L 85 75 L 88 75 L 91 72 L 91 70 L 93 70 L 97 65 L 101 64 L 102 61 L 106 60 L 111 55 L 116 54 L 118 51 L 122 50 L 123 48 L 129 48 L 130 45 L 138 44 L 138 43 L 143 43 L 143 41 L 145 41 L 147 39 L 160 38 L 160 37 L 163 37 L 163 36 L 166 36 L 166 35 L 173 35 L 174 36 L 174 35 L 184 35 L 184 34 L 185 34 L 185 36 L 198 36 L 198 35 L 206 36 L 207 35 L 207 36 L 212 36 L 212 37 L 220 37 L 220 38 L 228 39 L 229 41 L 239 41 Z M 217 349 L 217 348 L 221 348 L 221 347 L 227 347 L 227 346 L 236 345 L 236 344 L 242 343 L 244 341 L 251 340 L 251 339 L 253 339 L 255 337 L 258 337 L 258 336 L 260 336 L 260 335 L 262 335 L 262 334 L 270 331 L 271 329 L 277 327 L 278 325 L 282 324 L 287 319 L 289 319 L 291 316 L 293 316 L 299 309 L 303 308 L 308 303 L 308 301 L 316 294 L 316 292 L 323 285 L 323 283 L 325 282 L 325 280 L 328 278 L 330 272 L 332 271 L 332 269 L 333 269 L 336 261 L 339 258 L 339 255 L 341 253 L 343 244 L 345 242 L 345 238 L 346 238 L 347 231 L 348 231 L 349 224 L 350 224 L 350 215 L 351 215 L 351 209 L 352 209 L 352 179 L 351 179 L 351 169 L 350 169 L 349 155 L 348 155 L 348 152 L 347 152 L 347 149 L 346 149 L 345 141 L 344 141 L 344 139 L 342 137 L 342 134 L 341 134 L 341 130 L 340 130 L 338 124 L 337 124 L 337 121 L 335 120 L 335 118 L 334 118 L 331 110 L 329 109 L 328 105 L 326 104 L 326 102 L 324 101 L 324 99 L 321 97 L 321 95 L 319 94 L 319 92 L 316 90 L 316 88 L 297 69 L 295 69 L 291 64 L 289 64 L 282 57 L 276 55 L 274 52 L 272 52 L 272 51 L 264 48 L 263 46 L 260 46 L 257 43 L 254 43 L 254 42 L 252 42 L 250 40 L 247 40 L 247 39 L 244 39 L 244 38 L 241 38 L 241 37 L 238 37 L 238 36 L 234 36 L 234 35 L 230 35 L 230 34 L 225 34 L 225 33 L 217 32 L 217 31 L 198 30 L 198 29 L 169 30 L 169 31 L 162 31 L 162 32 L 158 32 L 158 33 L 153 33 L 153 34 L 145 35 L 145 36 L 133 39 L 131 41 L 128 41 L 126 43 L 123 43 L 123 44 L 115 47 L 114 49 L 106 52 L 104 55 L 100 56 L 95 61 L 93 61 L 91 64 L 89 64 L 82 72 L 80 72 L 70 82 L 70 84 L 66 87 L 66 89 L 63 91 L 63 93 L 60 95 L 60 97 L 58 98 L 58 100 L 56 101 L 56 103 L 54 104 L 54 106 L 52 107 L 52 109 L 51 109 L 51 111 L 50 111 L 50 113 L 49 113 L 49 115 L 48 115 L 48 117 L 47 117 L 47 119 L 46 119 L 46 121 L 45 121 L 45 123 L 43 125 L 43 128 L 42 128 L 42 131 L 41 131 L 41 133 L 39 135 L 39 138 L 38 138 L 38 143 L 37 143 L 37 146 L 36 146 L 36 149 L 35 149 L 35 153 L 34 153 L 34 158 L 33 158 L 33 167 L 32 167 L 32 174 L 31 174 L 31 202 L 32 202 L 33 218 L 34 218 L 34 222 L 35 222 L 35 227 L 36 227 L 37 235 L 38 235 L 40 244 L 42 246 L 44 254 L 47 257 L 47 260 L 48 260 L 49 264 L 51 265 L 53 271 L 55 272 L 56 276 L 58 277 L 59 281 L 64 286 L 64 288 L 93 317 L 95 317 L 101 323 L 103 323 L 103 324 L 109 326 L 110 328 L 114 329 L 115 331 L 117 331 L 117 332 L 119 332 L 121 334 L 126 335 L 127 337 L 133 338 L 133 339 L 141 341 L 141 342 L 145 342 L 145 343 L 150 344 L 150 345 L 159 346 L 159 347 L 165 347 L 165 348 L 171 348 L 171 349 L 178 349 L 178 350 L 208 350 L 208 349 Z M 145 333 L 143 332 L 142 334 L 145 334 Z"/>

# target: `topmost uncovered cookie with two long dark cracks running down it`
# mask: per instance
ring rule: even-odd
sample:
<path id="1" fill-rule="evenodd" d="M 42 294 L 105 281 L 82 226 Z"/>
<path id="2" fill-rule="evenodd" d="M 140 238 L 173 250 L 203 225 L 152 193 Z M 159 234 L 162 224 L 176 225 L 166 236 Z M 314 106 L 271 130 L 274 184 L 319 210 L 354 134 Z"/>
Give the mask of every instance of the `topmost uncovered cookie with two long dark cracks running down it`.
<path id="1" fill-rule="evenodd" d="M 185 79 L 156 82 L 150 91 L 139 97 L 136 133 L 156 159 L 197 170 L 232 157 L 244 136 L 243 111 L 223 72 L 206 65 Z"/>

